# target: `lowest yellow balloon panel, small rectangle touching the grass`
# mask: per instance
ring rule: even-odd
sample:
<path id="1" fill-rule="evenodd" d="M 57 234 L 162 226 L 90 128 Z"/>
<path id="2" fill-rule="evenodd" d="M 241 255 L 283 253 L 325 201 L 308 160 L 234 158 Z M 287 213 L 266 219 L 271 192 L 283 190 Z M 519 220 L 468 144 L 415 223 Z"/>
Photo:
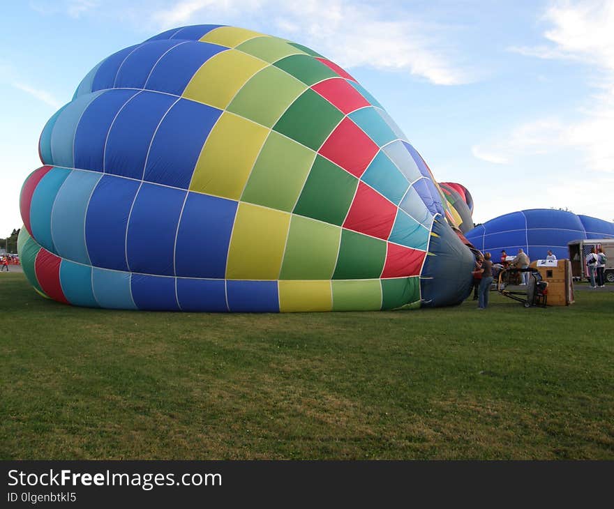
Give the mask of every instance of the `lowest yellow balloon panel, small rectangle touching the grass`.
<path id="1" fill-rule="evenodd" d="M 333 309 L 330 281 L 280 281 L 279 310 L 330 311 Z"/>

